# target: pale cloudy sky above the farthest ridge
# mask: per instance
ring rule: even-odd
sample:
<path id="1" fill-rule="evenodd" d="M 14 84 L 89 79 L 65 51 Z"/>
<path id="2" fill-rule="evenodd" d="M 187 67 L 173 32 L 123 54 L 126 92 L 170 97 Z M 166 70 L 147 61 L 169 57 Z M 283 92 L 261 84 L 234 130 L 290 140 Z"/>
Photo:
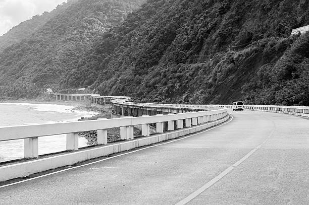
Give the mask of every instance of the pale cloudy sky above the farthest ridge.
<path id="1" fill-rule="evenodd" d="M 14 26 L 43 12 L 50 12 L 66 0 L 0 0 L 0 36 Z"/>

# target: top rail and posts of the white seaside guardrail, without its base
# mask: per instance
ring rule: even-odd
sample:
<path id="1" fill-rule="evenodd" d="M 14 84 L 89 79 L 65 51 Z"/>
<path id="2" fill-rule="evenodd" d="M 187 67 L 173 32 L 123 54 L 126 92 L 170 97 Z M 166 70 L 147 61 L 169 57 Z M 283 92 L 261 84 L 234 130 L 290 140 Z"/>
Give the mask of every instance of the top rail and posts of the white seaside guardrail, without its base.
<path id="1" fill-rule="evenodd" d="M 38 138 L 40 136 L 67 134 L 67 150 L 78 150 L 78 133 L 97 130 L 97 144 L 107 145 L 107 129 L 120 127 L 122 140 L 134 139 L 133 126 L 141 125 L 142 136 L 149 136 L 149 126 L 156 123 L 157 133 L 164 132 L 164 123 L 167 131 L 182 129 L 198 124 L 224 118 L 227 109 L 198 111 L 168 115 L 124 117 L 117 119 L 98 119 L 77 122 L 46 123 L 38 125 L 21 125 L 0 127 L 0 141 L 24 140 L 24 158 L 38 157 Z"/>

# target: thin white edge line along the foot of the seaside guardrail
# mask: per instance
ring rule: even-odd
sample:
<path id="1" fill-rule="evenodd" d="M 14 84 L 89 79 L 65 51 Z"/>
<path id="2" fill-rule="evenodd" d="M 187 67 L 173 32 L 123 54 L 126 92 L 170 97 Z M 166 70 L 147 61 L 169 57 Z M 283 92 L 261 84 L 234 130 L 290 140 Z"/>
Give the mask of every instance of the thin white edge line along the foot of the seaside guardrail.
<path id="1" fill-rule="evenodd" d="M 90 162 L 90 163 L 83 164 L 83 165 L 79 165 L 79 166 L 76 166 L 76 167 L 71 167 L 71 168 L 67 168 L 67 169 L 60 170 L 60 171 L 52 172 L 52 173 L 49 173 L 49 174 L 40 175 L 40 176 L 37 176 L 37 177 L 33 177 L 33 178 L 30 178 L 30 179 L 25 179 L 25 180 L 22 180 L 22 181 L 18 181 L 18 182 L 11 183 L 11 184 L 6 184 L 6 185 L 3 185 L 3 186 L 0 186 L 0 188 L 4 188 L 4 187 L 7 187 L 7 186 L 12 186 L 12 185 L 15 185 L 15 184 L 20 184 L 20 183 L 23 183 L 23 182 L 26 182 L 26 181 L 30 181 L 30 180 L 42 178 L 42 177 L 44 177 L 44 176 L 49 176 L 49 175 L 61 173 L 61 172 L 68 171 L 68 170 L 71 170 L 71 169 L 76 169 L 76 168 L 79 168 L 79 167 L 84 167 L 84 166 L 87 166 L 87 165 L 91 165 L 91 164 L 95 164 L 95 163 L 98 163 L 98 162 L 102 162 L 102 161 L 106 161 L 106 160 L 109 160 L 109 159 L 113 159 L 113 158 L 115 158 L 115 157 L 120 157 L 120 156 L 123 156 L 123 155 L 128 155 L 128 154 L 131 154 L 131 153 L 134 153 L 134 152 L 138 152 L 138 151 L 141 151 L 141 150 L 145 150 L 145 149 L 149 149 L 149 148 L 153 148 L 153 147 L 157 147 L 157 146 L 161 146 L 161 145 L 166 145 L 166 144 L 169 144 L 169 143 L 174 143 L 174 142 L 179 141 L 179 140 L 184 140 L 184 139 L 186 139 L 186 138 L 189 138 L 190 136 L 194 136 L 194 135 L 196 135 L 196 134 L 200 134 L 200 133 L 203 133 L 203 132 L 212 130 L 212 129 L 214 129 L 214 128 L 217 128 L 217 127 L 220 127 L 220 126 L 222 126 L 222 125 L 225 125 L 225 124 L 229 123 L 229 122 L 232 121 L 232 119 L 233 119 L 233 116 L 232 116 L 232 115 L 229 114 L 229 116 L 231 116 L 231 119 L 230 119 L 229 121 L 223 123 L 223 124 L 220 124 L 220 125 L 218 125 L 218 126 L 212 127 L 212 128 L 207 129 L 207 130 L 205 130 L 205 131 L 200 131 L 200 132 L 198 132 L 198 133 L 185 136 L 184 138 L 181 138 L 181 139 L 173 140 L 173 141 L 166 142 L 166 143 L 161 143 L 161 144 L 159 144 L 159 145 L 153 145 L 153 146 L 150 146 L 150 147 L 145 147 L 145 148 L 142 148 L 142 149 L 139 149 L 139 150 L 134 150 L 134 151 L 132 151 L 132 152 L 127 152 L 127 153 L 120 154 L 120 155 L 116 155 L 116 156 L 113 156 L 113 157 L 101 159 L 101 160 L 98 160 L 98 161 L 95 161 L 95 162 Z M 173 132 L 172 132 L 172 133 L 173 133 Z"/>

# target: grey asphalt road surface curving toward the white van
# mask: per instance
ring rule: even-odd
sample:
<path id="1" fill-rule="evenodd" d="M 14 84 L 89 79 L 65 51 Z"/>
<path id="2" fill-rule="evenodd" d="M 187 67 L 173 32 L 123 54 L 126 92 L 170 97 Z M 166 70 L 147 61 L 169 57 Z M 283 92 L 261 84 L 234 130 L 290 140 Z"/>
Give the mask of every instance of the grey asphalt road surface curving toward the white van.
<path id="1" fill-rule="evenodd" d="M 0 204 L 309 204 L 309 119 L 230 113 L 180 141 L 0 188 Z"/>

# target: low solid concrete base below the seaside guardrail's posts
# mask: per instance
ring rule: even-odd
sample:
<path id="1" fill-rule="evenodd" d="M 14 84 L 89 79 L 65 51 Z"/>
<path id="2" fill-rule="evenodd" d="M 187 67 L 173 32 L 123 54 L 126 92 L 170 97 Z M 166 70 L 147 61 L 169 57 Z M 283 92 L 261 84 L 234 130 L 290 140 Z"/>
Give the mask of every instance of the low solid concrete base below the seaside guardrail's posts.
<path id="1" fill-rule="evenodd" d="M 46 157 L 42 159 L 36 159 L 28 162 L 14 163 L 11 165 L 0 166 L 0 181 L 6 181 L 18 177 L 28 176 L 34 173 L 55 169 L 58 167 L 64 167 L 72 165 L 78 162 L 107 156 L 113 153 L 128 151 L 134 148 L 143 147 L 151 144 L 160 143 L 167 140 L 176 139 L 180 136 L 191 134 L 194 132 L 207 129 L 218 124 L 224 123 L 229 119 L 229 115 L 213 121 L 204 123 L 198 126 L 191 126 L 176 131 L 159 133 L 156 135 L 144 137 L 141 139 L 134 139 L 123 143 L 117 143 L 113 145 L 98 146 L 95 148 L 88 148 L 85 150 L 61 154 L 52 157 Z"/>

